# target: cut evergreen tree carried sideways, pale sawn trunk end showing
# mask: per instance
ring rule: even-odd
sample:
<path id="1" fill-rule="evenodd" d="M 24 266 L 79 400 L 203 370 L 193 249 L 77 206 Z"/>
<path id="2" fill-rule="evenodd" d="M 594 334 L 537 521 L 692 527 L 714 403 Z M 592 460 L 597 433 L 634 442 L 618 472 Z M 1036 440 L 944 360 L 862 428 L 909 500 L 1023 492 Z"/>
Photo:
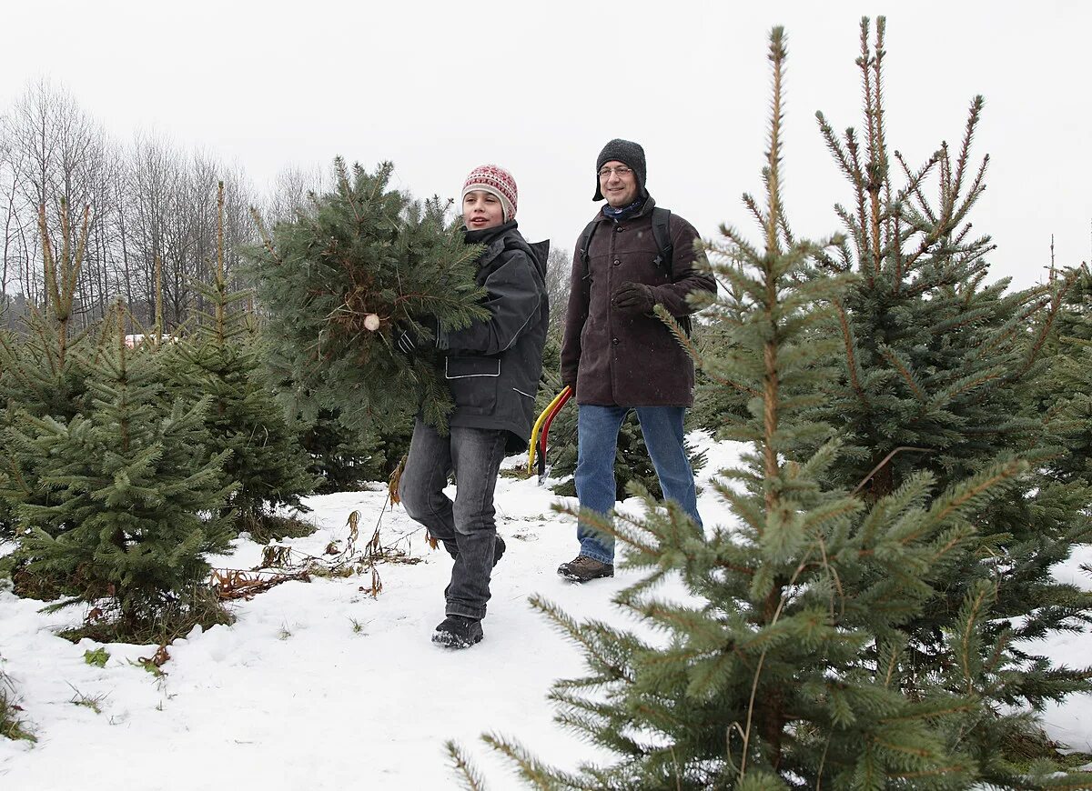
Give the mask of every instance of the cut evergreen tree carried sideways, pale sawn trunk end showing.
<path id="1" fill-rule="evenodd" d="M 289 412 L 305 423 L 325 410 L 349 430 L 378 434 L 420 408 L 446 428 L 451 396 L 436 365 L 425 353 L 399 353 L 393 336 L 410 327 L 427 349 L 435 345 L 428 317 L 443 328 L 487 317 L 474 280 L 480 248 L 446 226 L 438 199 L 420 203 L 389 189 L 391 172 L 389 163 L 371 173 L 357 165 L 351 178 L 337 159 L 336 191 L 311 195 L 249 251 L 269 313 L 273 376 L 287 383 Z"/>

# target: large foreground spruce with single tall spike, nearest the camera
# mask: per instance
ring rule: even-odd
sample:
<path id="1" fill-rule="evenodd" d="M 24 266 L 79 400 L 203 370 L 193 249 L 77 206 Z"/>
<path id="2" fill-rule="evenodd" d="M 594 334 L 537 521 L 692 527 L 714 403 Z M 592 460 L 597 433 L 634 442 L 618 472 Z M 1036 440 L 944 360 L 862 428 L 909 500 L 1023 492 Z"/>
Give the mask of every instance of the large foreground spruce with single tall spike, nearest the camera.
<path id="1" fill-rule="evenodd" d="M 563 771 L 518 743 L 486 741 L 537 788 L 1084 787 L 1092 776 L 1013 766 L 976 735 L 1001 722 L 1035 732 L 1028 714 L 997 705 L 1020 667 L 993 625 L 997 585 L 974 579 L 945 610 L 929 662 L 907 630 L 980 558 L 993 536 L 976 515 L 1019 490 L 1029 464 L 997 459 L 943 487 L 915 471 L 870 496 L 830 482 L 847 445 L 819 407 L 841 358 L 836 305 L 852 275 L 824 274 L 815 265 L 823 249 L 796 239 L 785 218 L 780 28 L 770 60 L 764 206 L 746 197 L 762 243 L 723 227 L 710 264 L 731 284 L 711 297 L 732 341 L 715 370 L 750 396 L 726 432 L 753 451 L 715 484 L 738 524 L 703 531 L 651 500 L 643 518 L 600 523 L 625 548 L 621 565 L 644 573 L 616 597 L 640 632 L 535 600 L 590 668 L 555 686 L 559 720 L 610 762 Z M 681 601 L 661 588 L 673 580 L 685 585 Z"/>

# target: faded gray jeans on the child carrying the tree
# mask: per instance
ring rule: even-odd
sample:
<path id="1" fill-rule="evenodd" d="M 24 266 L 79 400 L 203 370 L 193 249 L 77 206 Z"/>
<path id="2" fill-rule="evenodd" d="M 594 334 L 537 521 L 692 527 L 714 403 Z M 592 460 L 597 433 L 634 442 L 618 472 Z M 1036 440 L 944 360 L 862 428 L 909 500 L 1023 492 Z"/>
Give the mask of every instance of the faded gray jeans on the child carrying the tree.
<path id="1" fill-rule="evenodd" d="M 451 427 L 448 436 L 417 418 L 399 496 L 406 513 L 443 542 L 454 559 L 444 590 L 447 614 L 485 618 L 497 543 L 494 489 L 505 458 L 507 432 Z M 455 472 L 455 501 L 443 488 Z"/>

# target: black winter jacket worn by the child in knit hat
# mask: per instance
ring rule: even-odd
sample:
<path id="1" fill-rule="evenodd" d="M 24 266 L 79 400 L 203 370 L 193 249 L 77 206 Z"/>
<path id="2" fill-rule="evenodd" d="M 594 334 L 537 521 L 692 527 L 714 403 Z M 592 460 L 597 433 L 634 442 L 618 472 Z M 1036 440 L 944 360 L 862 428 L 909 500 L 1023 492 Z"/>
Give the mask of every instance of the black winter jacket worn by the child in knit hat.
<path id="1" fill-rule="evenodd" d="M 476 279 L 487 291 L 485 305 L 492 317 L 437 336 L 455 400 L 451 424 L 502 429 L 509 432 L 509 453 L 525 451 L 549 323 L 549 242 L 529 244 L 515 220 L 467 231 L 466 242 L 487 245 Z"/>

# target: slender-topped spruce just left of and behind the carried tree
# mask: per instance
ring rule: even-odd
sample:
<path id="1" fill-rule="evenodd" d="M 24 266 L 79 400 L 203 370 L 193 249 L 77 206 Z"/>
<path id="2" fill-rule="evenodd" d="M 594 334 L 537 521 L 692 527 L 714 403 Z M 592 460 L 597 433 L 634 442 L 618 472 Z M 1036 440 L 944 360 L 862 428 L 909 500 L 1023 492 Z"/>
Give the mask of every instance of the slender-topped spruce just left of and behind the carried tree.
<path id="1" fill-rule="evenodd" d="M 190 403 L 207 399 L 205 429 L 213 454 L 227 452 L 224 484 L 236 488 L 225 504 L 234 513 L 237 531 L 265 535 L 278 505 L 301 508 L 299 498 L 318 482 L 307 471 L 308 458 L 264 380 L 262 356 L 251 313 L 240 310 L 251 297 L 232 292 L 224 272 L 224 184 L 218 194 L 219 225 L 216 260 L 211 278 L 195 286 L 207 310 L 199 313 L 198 329 L 170 344 L 166 358 L 171 398 Z"/>

